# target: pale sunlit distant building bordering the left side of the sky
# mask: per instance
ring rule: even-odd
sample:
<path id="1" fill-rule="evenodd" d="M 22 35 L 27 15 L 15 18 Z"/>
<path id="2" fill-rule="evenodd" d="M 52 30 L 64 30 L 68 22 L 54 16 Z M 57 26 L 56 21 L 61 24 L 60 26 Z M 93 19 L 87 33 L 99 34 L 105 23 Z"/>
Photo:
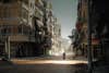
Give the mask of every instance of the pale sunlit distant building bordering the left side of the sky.
<path id="1" fill-rule="evenodd" d="M 52 47 L 50 54 L 55 56 L 61 52 L 61 25 L 55 17 L 53 28 L 52 28 Z"/>

